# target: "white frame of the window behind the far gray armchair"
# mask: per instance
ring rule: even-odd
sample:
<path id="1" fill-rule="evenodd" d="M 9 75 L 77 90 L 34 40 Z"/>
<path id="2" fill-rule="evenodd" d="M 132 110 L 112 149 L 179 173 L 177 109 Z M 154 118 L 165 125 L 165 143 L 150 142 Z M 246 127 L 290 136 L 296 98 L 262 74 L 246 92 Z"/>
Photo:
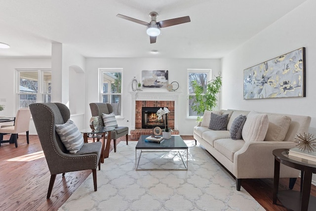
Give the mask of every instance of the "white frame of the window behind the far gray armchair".
<path id="1" fill-rule="evenodd" d="M 103 85 L 103 73 L 106 72 L 118 72 L 121 74 L 121 93 L 103 93 L 104 85 Z M 108 87 L 109 89 L 110 87 Z M 120 115 L 116 115 L 116 119 L 123 118 L 123 68 L 99 68 L 99 102 L 103 102 L 104 95 L 120 95 Z M 110 97 L 111 99 L 111 97 Z"/>

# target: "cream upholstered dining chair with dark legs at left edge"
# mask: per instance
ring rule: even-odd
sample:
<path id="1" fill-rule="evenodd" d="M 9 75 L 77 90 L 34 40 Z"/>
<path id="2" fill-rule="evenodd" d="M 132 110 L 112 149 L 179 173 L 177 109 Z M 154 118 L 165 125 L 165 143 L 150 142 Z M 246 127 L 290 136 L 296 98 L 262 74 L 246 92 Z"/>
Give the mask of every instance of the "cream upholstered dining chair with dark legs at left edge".
<path id="1" fill-rule="evenodd" d="M 16 113 L 14 124 L 3 125 L 0 127 L 0 146 L 1 143 L 15 143 L 18 147 L 18 133 L 26 132 L 26 140 L 29 144 L 29 127 L 30 127 L 31 112 L 30 109 L 20 109 Z M 3 140 L 3 135 L 11 134 L 10 140 Z"/>

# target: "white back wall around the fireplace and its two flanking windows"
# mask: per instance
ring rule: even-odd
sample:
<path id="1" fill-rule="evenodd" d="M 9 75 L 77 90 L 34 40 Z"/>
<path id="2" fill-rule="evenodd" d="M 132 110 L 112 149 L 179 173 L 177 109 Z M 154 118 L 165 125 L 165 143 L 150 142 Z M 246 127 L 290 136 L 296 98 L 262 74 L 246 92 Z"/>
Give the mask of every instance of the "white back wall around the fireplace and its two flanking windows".
<path id="1" fill-rule="evenodd" d="M 212 75 L 220 72 L 219 59 L 154 59 L 154 58 L 87 58 L 86 59 L 86 117 L 88 127 L 91 117 L 89 103 L 98 102 L 98 68 L 123 68 L 122 78 L 122 115 L 119 126 L 131 127 L 131 82 L 134 76 L 139 81 L 142 70 L 168 70 L 169 82 L 177 81 L 182 92 L 179 96 L 179 129 L 181 135 L 192 135 L 196 120 L 186 118 L 187 105 L 187 69 L 212 69 Z M 148 89 L 147 89 L 148 90 Z M 144 90 L 146 91 L 146 90 Z"/>

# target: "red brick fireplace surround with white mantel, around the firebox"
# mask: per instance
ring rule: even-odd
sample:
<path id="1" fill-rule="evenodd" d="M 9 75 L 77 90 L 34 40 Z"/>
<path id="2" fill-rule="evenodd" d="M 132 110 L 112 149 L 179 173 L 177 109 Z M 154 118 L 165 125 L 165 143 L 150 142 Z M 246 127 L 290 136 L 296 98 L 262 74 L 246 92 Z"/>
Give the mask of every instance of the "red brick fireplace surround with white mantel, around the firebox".
<path id="1" fill-rule="evenodd" d="M 138 139 L 140 135 L 152 133 L 152 129 L 142 129 L 142 107 L 167 107 L 168 126 L 172 128 L 172 134 L 179 134 L 178 130 L 178 98 L 181 92 L 169 91 L 132 91 L 132 128 L 131 139 Z M 135 111 L 135 113 L 133 112 Z"/>

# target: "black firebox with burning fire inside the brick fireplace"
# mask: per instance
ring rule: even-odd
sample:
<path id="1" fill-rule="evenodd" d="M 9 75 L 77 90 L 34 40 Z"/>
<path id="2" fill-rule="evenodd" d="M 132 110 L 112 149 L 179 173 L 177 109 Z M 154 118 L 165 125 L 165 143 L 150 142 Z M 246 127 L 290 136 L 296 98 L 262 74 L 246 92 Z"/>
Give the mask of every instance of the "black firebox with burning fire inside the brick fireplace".
<path id="1" fill-rule="evenodd" d="M 158 109 L 159 107 L 142 107 L 142 128 L 160 127 L 164 129 L 164 121 L 166 121 L 167 125 L 168 118 L 158 120 L 158 116 L 156 115 Z"/>

